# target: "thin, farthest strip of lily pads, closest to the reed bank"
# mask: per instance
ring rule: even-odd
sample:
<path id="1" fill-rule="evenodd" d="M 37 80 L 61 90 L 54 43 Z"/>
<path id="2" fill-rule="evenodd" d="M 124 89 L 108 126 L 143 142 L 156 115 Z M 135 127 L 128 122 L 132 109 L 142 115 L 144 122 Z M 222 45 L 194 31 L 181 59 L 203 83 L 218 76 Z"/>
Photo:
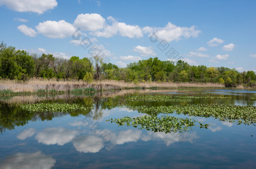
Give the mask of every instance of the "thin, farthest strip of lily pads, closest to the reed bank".
<path id="1" fill-rule="evenodd" d="M 145 95 L 145 96 L 125 96 L 128 101 L 174 101 L 174 102 L 191 102 L 190 98 L 172 98 L 172 96 Z"/>

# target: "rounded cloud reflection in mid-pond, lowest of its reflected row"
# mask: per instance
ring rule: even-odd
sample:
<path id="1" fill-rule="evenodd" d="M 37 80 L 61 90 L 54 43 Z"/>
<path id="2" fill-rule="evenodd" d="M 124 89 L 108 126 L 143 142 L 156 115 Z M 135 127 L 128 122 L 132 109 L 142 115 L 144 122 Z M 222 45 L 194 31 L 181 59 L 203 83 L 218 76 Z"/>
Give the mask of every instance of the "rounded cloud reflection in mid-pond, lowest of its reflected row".
<path id="1" fill-rule="evenodd" d="M 97 153 L 104 147 L 102 138 L 97 136 L 83 136 L 73 139 L 76 151 L 84 153 Z"/>

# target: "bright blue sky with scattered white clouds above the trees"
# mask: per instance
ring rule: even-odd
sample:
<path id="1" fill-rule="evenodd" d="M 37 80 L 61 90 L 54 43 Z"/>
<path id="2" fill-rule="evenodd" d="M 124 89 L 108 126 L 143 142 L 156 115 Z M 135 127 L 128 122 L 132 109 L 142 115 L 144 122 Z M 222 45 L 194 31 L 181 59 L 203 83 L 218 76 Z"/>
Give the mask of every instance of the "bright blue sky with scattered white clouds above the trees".
<path id="1" fill-rule="evenodd" d="M 256 71 L 255 0 L 0 0 L 0 41 L 118 67 L 158 57 Z"/>

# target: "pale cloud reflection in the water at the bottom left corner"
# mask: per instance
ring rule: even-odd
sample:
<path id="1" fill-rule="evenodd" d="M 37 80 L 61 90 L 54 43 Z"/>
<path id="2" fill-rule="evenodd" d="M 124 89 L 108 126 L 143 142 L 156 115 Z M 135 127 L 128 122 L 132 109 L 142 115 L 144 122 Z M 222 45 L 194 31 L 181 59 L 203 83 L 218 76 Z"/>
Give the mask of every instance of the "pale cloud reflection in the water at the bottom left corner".
<path id="1" fill-rule="evenodd" d="M 35 153 L 16 153 L 0 162 L 1 169 L 51 169 L 56 160 L 51 156 Z"/>

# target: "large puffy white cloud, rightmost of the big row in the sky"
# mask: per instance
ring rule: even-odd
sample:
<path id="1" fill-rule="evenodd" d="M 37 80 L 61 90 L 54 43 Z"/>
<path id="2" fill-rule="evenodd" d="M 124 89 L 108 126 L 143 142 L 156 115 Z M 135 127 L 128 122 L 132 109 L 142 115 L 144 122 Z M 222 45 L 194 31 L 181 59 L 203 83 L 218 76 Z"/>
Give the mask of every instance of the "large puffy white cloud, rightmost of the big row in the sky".
<path id="1" fill-rule="evenodd" d="M 195 26 L 179 27 L 172 23 L 168 23 L 164 28 L 157 28 L 157 37 L 159 40 L 166 40 L 171 42 L 173 40 L 180 40 L 181 37 L 190 38 L 191 36 L 197 38 L 201 30 L 195 30 Z M 149 34 L 149 36 L 152 34 Z"/>

